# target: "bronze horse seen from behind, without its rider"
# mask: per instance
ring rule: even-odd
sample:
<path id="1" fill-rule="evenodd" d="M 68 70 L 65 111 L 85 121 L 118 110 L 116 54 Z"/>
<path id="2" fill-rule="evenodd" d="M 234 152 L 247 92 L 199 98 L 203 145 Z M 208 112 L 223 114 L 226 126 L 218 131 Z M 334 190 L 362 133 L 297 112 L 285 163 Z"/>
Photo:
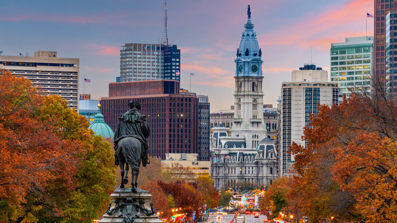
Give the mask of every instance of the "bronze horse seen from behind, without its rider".
<path id="1" fill-rule="evenodd" d="M 125 137 L 119 141 L 118 149 L 116 152 L 120 163 L 121 178 L 123 179 L 121 181 L 120 188 L 124 188 L 124 184 L 128 183 L 128 170 L 129 167 L 131 167 L 131 189 L 133 192 L 136 192 L 138 185 L 137 179 L 139 175 L 142 144 L 135 137 Z"/>

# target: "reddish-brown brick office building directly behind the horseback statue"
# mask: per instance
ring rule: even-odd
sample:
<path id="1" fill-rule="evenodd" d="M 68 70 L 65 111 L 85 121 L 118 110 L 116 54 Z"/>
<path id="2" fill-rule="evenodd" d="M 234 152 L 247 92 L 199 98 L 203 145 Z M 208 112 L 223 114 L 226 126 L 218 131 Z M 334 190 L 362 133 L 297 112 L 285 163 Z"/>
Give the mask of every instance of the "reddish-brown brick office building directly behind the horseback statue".
<path id="1" fill-rule="evenodd" d="M 101 99 L 105 122 L 113 129 L 120 114 L 136 100 L 150 127 L 149 154 L 198 153 L 198 98 L 179 94 L 179 81 L 146 80 L 109 83 L 109 97 Z"/>

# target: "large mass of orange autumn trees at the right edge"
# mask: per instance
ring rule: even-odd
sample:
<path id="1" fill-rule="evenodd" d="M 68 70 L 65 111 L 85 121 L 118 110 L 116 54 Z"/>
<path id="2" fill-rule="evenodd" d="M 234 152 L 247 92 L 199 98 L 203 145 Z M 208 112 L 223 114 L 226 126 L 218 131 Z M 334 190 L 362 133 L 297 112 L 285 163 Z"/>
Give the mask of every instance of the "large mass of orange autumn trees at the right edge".
<path id="1" fill-rule="evenodd" d="M 371 94 L 320 105 L 304 128 L 306 147 L 290 147 L 298 175 L 289 198 L 311 222 L 397 220 L 397 110 L 376 81 Z"/>

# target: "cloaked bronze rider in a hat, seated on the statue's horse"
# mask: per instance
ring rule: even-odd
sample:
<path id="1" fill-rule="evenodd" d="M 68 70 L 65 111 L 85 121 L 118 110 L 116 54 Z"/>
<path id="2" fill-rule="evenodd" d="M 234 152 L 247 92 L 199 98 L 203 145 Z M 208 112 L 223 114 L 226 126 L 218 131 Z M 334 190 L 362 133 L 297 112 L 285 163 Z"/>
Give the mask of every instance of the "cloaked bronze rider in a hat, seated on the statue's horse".
<path id="1" fill-rule="evenodd" d="M 148 159 L 148 141 L 147 137 L 150 135 L 149 126 L 146 124 L 146 116 L 138 113 L 137 109 L 140 110 L 140 104 L 137 101 L 130 101 L 128 103 L 131 110 L 124 114 L 120 114 L 119 124 L 117 125 L 115 136 L 113 138 L 113 143 L 115 144 L 115 164 L 119 165 L 119 159 L 117 158 L 117 144 L 125 137 L 137 138 L 142 144 L 142 165 L 150 163 Z"/>

